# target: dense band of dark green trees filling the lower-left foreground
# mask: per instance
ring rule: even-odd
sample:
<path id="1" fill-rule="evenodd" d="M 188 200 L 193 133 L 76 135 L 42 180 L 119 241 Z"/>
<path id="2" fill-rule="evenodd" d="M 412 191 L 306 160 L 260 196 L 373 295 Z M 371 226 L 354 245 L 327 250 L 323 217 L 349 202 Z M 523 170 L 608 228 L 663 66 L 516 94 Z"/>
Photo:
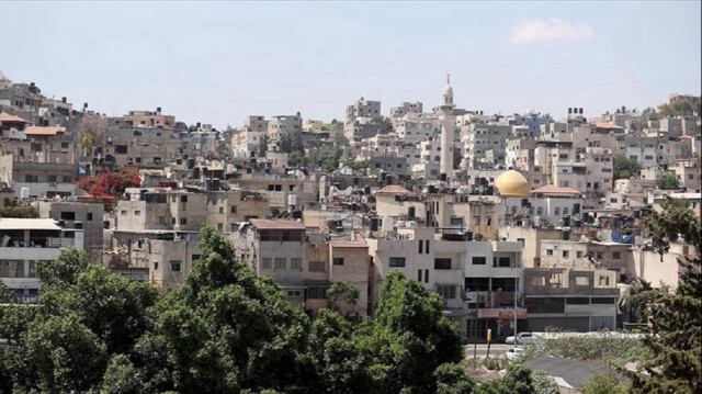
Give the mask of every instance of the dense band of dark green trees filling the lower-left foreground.
<path id="1" fill-rule="evenodd" d="M 183 286 L 161 296 L 75 248 L 39 266 L 38 306 L 0 307 L 0 389 L 15 393 L 463 393 L 461 338 L 439 295 L 394 272 L 376 319 L 342 316 L 335 283 L 314 322 L 202 230 Z"/>

